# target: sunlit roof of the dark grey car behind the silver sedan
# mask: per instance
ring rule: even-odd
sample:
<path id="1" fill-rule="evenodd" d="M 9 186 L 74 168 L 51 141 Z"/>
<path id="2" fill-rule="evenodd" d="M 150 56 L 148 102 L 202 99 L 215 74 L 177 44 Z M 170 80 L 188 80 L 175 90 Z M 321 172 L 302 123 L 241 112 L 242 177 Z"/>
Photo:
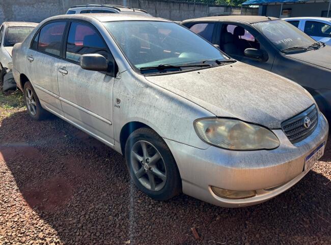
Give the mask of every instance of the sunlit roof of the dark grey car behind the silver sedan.
<path id="1" fill-rule="evenodd" d="M 194 19 L 187 19 L 182 21 L 182 23 L 188 22 L 214 22 L 214 21 L 237 21 L 237 22 L 246 22 L 246 23 L 256 23 L 268 20 L 279 19 L 275 17 L 266 17 L 266 16 L 258 16 L 258 15 L 225 15 L 225 16 L 209 16 L 209 17 L 202 17 L 202 18 L 194 18 Z"/>

